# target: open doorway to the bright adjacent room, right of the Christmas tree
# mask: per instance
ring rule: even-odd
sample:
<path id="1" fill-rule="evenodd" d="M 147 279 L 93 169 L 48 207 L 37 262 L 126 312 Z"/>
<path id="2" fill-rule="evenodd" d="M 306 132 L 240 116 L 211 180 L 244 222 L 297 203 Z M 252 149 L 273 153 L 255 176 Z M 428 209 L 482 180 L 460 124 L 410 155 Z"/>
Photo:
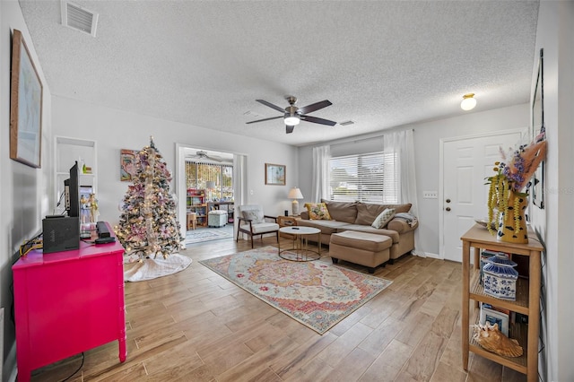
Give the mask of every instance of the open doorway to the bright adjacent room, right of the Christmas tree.
<path id="1" fill-rule="evenodd" d="M 178 210 L 186 245 L 233 238 L 233 154 L 194 147 L 178 150 Z"/>

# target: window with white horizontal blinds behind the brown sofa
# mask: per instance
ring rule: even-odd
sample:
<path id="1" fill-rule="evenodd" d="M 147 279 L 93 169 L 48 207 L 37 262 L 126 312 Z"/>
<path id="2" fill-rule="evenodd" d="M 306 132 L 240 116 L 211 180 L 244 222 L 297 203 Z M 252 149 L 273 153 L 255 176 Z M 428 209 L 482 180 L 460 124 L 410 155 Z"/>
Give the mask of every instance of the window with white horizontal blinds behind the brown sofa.
<path id="1" fill-rule="evenodd" d="M 347 155 L 329 160 L 330 199 L 396 204 L 399 195 L 395 152 Z"/>

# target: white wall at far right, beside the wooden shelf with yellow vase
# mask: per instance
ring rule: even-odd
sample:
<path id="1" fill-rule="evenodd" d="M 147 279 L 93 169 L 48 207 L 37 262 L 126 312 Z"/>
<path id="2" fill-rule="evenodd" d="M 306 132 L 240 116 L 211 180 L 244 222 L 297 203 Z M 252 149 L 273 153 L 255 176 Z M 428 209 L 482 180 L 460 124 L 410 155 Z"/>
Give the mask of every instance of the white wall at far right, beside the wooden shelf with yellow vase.
<path id="1" fill-rule="evenodd" d="M 535 230 L 544 241 L 540 374 L 549 381 L 574 380 L 574 2 L 541 1 L 536 59 L 544 48 L 545 209 L 533 210 Z M 535 70 L 535 69 L 534 69 Z M 533 78 L 534 78 L 533 70 Z M 533 83 L 534 91 L 534 83 Z M 541 346 L 542 347 L 542 346 Z"/>

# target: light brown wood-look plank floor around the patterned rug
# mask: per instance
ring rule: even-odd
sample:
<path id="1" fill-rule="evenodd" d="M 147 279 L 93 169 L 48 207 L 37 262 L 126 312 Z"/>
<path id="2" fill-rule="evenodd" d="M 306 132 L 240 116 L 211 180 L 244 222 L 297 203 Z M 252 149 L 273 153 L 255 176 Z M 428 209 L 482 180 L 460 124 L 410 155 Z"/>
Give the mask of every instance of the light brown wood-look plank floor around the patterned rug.
<path id="1" fill-rule="evenodd" d="M 263 245 L 276 246 L 275 239 Z M 319 335 L 198 263 L 248 249 L 243 240 L 194 244 L 182 251 L 194 260 L 185 271 L 127 282 L 126 362 L 117 342 L 108 343 L 85 352 L 69 380 L 526 380 L 472 353 L 468 372 L 462 369 L 460 264 L 404 256 L 379 267 L 375 275 L 392 285 Z M 327 248 L 323 254 L 319 261 L 330 263 Z M 34 370 L 32 381 L 63 380 L 81 363 L 76 355 Z"/>

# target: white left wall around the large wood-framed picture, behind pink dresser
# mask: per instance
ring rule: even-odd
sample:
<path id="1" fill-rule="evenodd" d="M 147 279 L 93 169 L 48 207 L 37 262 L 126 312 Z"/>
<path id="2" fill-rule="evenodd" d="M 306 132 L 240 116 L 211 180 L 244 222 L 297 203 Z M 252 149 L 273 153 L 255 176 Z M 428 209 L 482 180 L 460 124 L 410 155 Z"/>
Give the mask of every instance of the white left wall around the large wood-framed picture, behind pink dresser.
<path id="1" fill-rule="evenodd" d="M 10 159 L 10 58 L 14 29 L 22 31 L 44 86 L 41 169 L 32 169 Z M 0 1 L 0 232 L 3 234 L 0 239 L 0 306 L 4 307 L 4 327 L 0 328 L 4 331 L 2 380 L 7 380 L 15 367 L 15 333 L 10 317 L 13 254 L 24 239 L 31 239 L 39 233 L 41 219 L 48 211 L 46 179 L 52 172 L 53 163 L 48 146 L 51 142 L 51 97 L 47 83 L 20 4 L 15 0 Z"/>

